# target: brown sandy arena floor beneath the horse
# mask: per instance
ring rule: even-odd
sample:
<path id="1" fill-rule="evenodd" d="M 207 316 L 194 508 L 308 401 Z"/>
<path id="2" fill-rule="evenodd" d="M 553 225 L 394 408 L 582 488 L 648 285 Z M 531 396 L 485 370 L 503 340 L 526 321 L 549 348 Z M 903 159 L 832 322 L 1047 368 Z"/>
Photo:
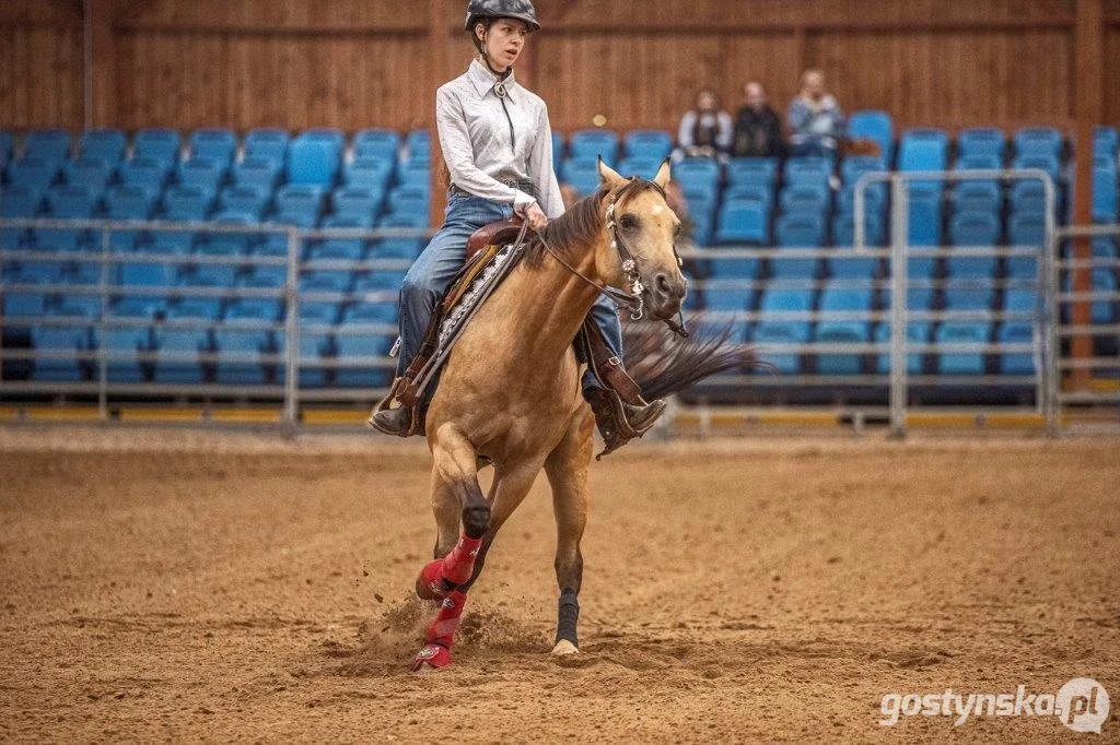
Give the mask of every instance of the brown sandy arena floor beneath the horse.
<path id="1" fill-rule="evenodd" d="M 1117 441 L 627 447 L 592 468 L 582 652 L 548 656 L 541 478 L 429 677 L 428 458 L 380 445 L 0 428 L 0 739 L 1090 742 L 878 724 L 1082 676 L 1120 739 Z"/>

